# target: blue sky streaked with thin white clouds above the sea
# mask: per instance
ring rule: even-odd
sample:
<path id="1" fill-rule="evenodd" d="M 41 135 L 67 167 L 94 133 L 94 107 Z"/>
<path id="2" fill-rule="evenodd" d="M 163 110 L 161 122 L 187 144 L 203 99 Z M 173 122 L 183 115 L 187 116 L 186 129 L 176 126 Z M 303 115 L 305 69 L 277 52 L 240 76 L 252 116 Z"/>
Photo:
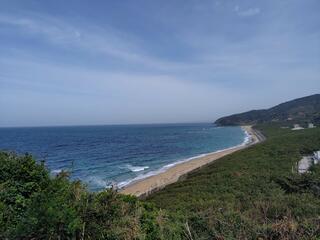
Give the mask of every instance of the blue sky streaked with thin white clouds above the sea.
<path id="1" fill-rule="evenodd" d="M 0 127 L 213 122 L 320 92 L 319 0 L 0 0 Z"/>

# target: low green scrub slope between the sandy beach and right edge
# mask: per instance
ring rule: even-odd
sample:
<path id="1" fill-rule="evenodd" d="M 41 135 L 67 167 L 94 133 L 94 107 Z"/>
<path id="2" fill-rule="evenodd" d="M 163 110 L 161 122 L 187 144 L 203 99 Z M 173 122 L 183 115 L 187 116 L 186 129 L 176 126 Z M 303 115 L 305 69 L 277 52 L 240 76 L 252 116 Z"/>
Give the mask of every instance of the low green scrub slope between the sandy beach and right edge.
<path id="1" fill-rule="evenodd" d="M 320 129 L 258 128 L 265 142 L 219 159 L 147 201 L 187 222 L 192 239 L 319 239 L 320 166 L 303 175 L 295 167 L 301 155 L 320 149 Z"/>

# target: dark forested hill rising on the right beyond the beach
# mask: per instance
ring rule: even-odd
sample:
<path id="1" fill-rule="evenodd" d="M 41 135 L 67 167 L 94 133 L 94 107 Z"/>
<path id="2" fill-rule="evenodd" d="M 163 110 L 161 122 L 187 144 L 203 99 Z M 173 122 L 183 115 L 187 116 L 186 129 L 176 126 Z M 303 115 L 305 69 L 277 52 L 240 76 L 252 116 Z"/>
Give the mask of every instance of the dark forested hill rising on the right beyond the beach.
<path id="1" fill-rule="evenodd" d="M 219 118 L 217 125 L 246 125 L 267 122 L 320 124 L 320 94 L 294 99 L 275 107 Z"/>

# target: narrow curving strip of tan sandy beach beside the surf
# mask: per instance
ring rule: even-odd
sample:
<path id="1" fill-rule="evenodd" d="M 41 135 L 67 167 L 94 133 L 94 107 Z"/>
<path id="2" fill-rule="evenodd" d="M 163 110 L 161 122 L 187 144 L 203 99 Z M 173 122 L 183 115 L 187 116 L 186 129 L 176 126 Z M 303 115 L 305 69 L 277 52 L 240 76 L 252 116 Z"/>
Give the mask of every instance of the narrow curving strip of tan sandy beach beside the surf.
<path id="1" fill-rule="evenodd" d="M 137 197 L 147 196 L 151 192 L 159 190 L 168 184 L 178 181 L 181 176 L 197 168 L 203 167 L 221 157 L 236 152 L 240 149 L 247 148 L 263 140 L 263 136 L 253 130 L 251 126 L 242 126 L 242 128 L 247 131 L 250 136 L 250 141 L 248 143 L 225 150 L 208 153 L 205 156 L 194 158 L 187 162 L 182 162 L 169 168 L 165 172 L 150 176 L 136 182 L 132 182 L 123 189 L 120 189 L 120 192 L 123 194 L 135 195 Z"/>

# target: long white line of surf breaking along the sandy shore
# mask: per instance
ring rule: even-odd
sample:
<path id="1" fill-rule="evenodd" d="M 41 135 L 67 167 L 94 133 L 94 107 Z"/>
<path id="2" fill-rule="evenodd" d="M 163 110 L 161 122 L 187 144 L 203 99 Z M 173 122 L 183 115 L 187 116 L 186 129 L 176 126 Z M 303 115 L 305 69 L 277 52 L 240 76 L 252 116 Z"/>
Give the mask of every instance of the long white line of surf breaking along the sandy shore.
<path id="1" fill-rule="evenodd" d="M 207 155 L 210 155 L 210 154 L 213 154 L 213 153 L 219 153 L 219 152 L 223 152 L 223 151 L 226 151 L 226 150 L 231 150 L 231 149 L 234 149 L 234 148 L 238 148 L 238 147 L 241 147 L 241 146 L 246 146 L 248 144 L 250 144 L 252 142 L 252 136 L 251 134 L 246 131 L 245 129 L 243 129 L 243 132 L 245 134 L 244 136 L 244 139 L 243 139 L 243 142 L 236 145 L 236 146 L 233 146 L 233 147 L 229 147 L 229 148 L 224 148 L 224 149 L 221 149 L 221 150 L 217 150 L 217 151 L 214 151 L 214 152 L 209 152 L 209 153 L 203 153 L 203 154 L 200 154 L 200 155 L 196 155 L 196 156 L 193 156 L 193 157 L 190 157 L 190 158 L 187 158 L 187 159 L 183 159 L 183 160 L 179 160 L 179 161 L 176 161 L 176 162 L 173 162 L 173 163 L 170 163 L 170 164 L 167 164 L 165 166 L 163 166 L 162 168 L 158 169 L 158 170 L 154 170 L 154 171 L 150 171 L 148 173 L 145 173 L 145 174 L 140 174 L 139 176 L 135 177 L 135 178 L 132 178 L 132 179 L 128 179 L 126 181 L 122 181 L 122 182 L 119 182 L 116 184 L 117 188 L 124 188 L 125 186 L 128 186 L 129 184 L 133 183 L 133 182 L 137 182 L 137 181 L 140 181 L 142 179 L 145 179 L 145 178 L 148 178 L 148 177 L 151 177 L 151 176 L 154 176 L 154 175 L 158 175 L 162 172 L 165 172 L 167 171 L 169 168 L 172 168 L 178 164 L 181 164 L 181 163 L 184 163 L 184 162 L 188 162 L 188 161 L 191 161 L 193 159 L 197 159 L 197 158 L 201 158 L 201 157 L 205 157 Z"/>

